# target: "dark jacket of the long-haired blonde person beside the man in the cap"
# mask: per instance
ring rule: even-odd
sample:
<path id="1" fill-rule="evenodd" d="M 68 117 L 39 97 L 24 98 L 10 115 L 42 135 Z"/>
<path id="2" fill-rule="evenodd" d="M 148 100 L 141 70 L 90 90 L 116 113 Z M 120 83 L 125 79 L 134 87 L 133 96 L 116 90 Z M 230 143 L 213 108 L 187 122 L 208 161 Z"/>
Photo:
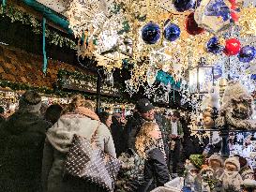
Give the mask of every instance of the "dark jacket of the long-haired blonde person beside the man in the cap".
<path id="1" fill-rule="evenodd" d="M 163 154 L 158 148 L 148 152 L 144 164 L 144 181 L 138 192 L 151 191 L 158 186 L 163 186 L 170 181 L 170 175 Z"/>

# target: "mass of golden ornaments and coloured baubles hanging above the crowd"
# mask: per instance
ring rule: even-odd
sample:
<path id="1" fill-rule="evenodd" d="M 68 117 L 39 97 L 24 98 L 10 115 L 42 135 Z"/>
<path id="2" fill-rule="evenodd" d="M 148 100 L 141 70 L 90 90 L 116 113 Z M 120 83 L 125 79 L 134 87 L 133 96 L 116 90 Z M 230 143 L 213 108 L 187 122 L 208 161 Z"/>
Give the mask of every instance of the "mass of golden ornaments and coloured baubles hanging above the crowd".
<path id="1" fill-rule="evenodd" d="M 241 36 L 255 35 L 255 18 L 249 14 L 255 9 L 233 0 L 71 0 L 67 15 L 75 36 L 84 38 L 79 56 L 94 57 L 108 71 L 122 67 L 124 60 L 134 70 L 142 67 L 143 76 L 133 71 L 127 81 L 132 95 L 138 85 L 152 86 L 158 70 L 174 82 L 186 78 L 201 58 L 214 66 L 235 55 L 253 66 L 254 46 L 226 34 L 237 25 Z"/>

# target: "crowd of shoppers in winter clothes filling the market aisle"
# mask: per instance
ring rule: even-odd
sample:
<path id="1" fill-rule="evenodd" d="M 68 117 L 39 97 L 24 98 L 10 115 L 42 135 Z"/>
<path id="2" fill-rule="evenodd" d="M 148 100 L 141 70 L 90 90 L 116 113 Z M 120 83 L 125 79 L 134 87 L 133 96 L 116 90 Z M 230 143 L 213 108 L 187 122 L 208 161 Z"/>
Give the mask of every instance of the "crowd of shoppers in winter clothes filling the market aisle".
<path id="1" fill-rule="evenodd" d="M 157 115 L 144 98 L 127 119 L 118 112 L 97 114 L 94 110 L 81 95 L 73 96 L 65 107 L 53 104 L 42 109 L 38 93 L 27 91 L 19 101 L 19 110 L 7 120 L 0 111 L 0 191 L 106 191 L 91 181 L 64 177 L 74 135 L 94 138 L 98 148 L 113 157 L 135 150 L 144 159 L 144 176 L 133 191 L 150 191 L 177 176 L 186 142 L 186 127 L 178 111 Z"/>

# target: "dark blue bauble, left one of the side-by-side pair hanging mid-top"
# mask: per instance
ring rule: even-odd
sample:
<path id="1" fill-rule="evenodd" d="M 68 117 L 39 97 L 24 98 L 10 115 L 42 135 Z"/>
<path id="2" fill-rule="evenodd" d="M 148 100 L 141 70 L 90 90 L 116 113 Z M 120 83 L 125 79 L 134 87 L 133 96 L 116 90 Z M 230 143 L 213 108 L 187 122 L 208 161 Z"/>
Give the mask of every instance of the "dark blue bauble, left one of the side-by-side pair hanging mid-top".
<path id="1" fill-rule="evenodd" d="M 143 26 L 142 37 L 147 44 L 155 44 L 161 36 L 160 27 L 154 22 L 148 22 Z"/>

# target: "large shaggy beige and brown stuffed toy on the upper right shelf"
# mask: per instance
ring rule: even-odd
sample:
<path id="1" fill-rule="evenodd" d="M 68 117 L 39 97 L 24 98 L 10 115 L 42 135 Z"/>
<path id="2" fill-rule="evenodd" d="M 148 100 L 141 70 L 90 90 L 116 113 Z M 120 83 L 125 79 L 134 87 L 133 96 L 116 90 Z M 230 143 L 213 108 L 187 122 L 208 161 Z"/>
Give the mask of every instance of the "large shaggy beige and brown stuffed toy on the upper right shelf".
<path id="1" fill-rule="evenodd" d="M 256 129 L 253 115 L 252 97 L 239 81 L 229 81 L 222 98 L 222 105 L 217 119 L 218 127 L 230 129 Z"/>

